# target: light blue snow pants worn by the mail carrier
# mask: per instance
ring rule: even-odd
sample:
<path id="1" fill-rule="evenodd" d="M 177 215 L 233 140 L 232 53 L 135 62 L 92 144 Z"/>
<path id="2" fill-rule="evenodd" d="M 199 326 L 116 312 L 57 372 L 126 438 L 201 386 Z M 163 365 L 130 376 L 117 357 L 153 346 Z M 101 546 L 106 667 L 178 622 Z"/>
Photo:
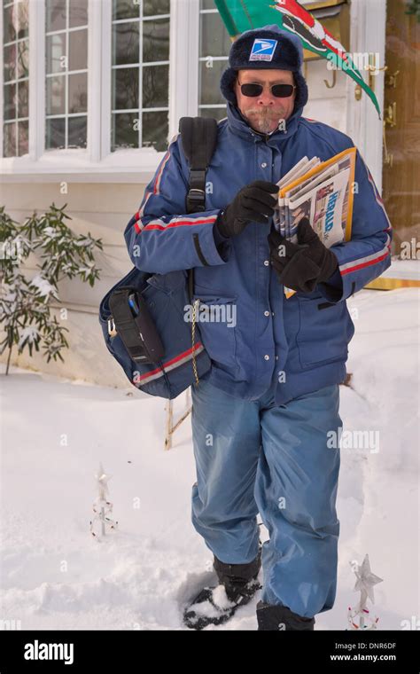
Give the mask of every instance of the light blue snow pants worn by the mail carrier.
<path id="1" fill-rule="evenodd" d="M 244 564 L 262 546 L 261 599 L 313 617 L 337 588 L 340 453 L 338 384 L 276 405 L 273 385 L 256 401 L 206 381 L 191 388 L 197 482 L 192 523 L 221 561 Z"/>

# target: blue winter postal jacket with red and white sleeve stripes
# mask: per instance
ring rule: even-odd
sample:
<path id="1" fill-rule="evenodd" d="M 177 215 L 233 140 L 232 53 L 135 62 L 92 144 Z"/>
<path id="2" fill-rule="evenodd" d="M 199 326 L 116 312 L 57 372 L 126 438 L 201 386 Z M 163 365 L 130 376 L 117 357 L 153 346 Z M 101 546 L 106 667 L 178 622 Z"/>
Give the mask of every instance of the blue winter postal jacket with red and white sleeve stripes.
<path id="1" fill-rule="evenodd" d="M 178 134 L 124 236 L 138 269 L 164 274 L 194 268 L 194 299 L 226 310 L 219 317 L 229 320 L 198 323 L 213 360 L 205 379 L 246 400 L 261 396 L 276 380 L 276 403 L 284 404 L 345 380 L 347 345 L 354 335 L 346 299 L 389 267 L 392 229 L 357 153 L 352 239 L 331 248 L 338 270 L 312 293 L 285 299 L 268 262 L 272 218 L 267 224 L 249 223 L 232 239 L 221 237 L 215 220 L 253 180 L 277 183 L 301 157 L 325 161 L 354 143 L 338 130 L 302 117 L 302 108 L 287 120 L 285 131 L 271 136 L 254 131 L 231 103 L 227 113 L 218 124 L 206 174 L 206 211 L 185 215 L 189 167 Z"/>

